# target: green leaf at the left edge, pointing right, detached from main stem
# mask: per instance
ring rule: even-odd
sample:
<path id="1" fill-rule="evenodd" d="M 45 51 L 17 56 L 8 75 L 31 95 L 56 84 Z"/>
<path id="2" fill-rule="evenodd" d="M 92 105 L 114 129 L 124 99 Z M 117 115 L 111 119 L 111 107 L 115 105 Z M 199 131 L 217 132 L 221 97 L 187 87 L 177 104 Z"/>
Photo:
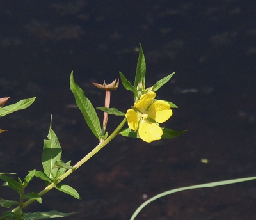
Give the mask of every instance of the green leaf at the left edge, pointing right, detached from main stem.
<path id="1" fill-rule="evenodd" d="M 19 102 L 15 103 L 15 104 L 2 107 L 0 109 L 0 118 L 3 116 L 6 116 L 6 114 L 13 113 L 14 111 L 26 109 L 35 101 L 35 99 L 36 99 L 36 97 L 28 98 L 28 99 L 20 100 Z"/>

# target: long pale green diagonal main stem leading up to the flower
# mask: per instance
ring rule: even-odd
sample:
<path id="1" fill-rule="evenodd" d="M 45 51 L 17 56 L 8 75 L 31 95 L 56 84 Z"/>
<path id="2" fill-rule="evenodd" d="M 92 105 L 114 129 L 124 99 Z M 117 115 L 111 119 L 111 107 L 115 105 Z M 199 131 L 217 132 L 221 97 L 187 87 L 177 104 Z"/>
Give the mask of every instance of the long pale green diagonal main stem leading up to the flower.
<path id="1" fill-rule="evenodd" d="M 77 162 L 77 164 L 74 165 L 74 167 L 76 169 L 79 168 L 81 165 L 84 164 L 84 162 L 88 161 L 88 159 L 90 159 L 93 155 L 95 155 L 95 153 L 99 152 L 99 150 L 101 148 L 106 146 L 109 143 L 109 141 L 111 141 L 113 138 L 115 138 L 115 136 L 118 134 L 118 132 L 120 132 L 122 127 L 124 127 L 125 123 L 126 123 L 126 118 L 124 118 L 124 120 L 122 120 L 120 125 L 118 125 L 118 127 L 113 131 L 113 133 L 111 135 L 109 135 L 109 137 L 107 139 L 105 139 L 102 143 L 99 143 L 99 145 L 95 146 L 95 148 L 93 148 L 93 150 L 90 153 L 88 153 L 83 159 L 81 159 L 81 161 Z M 76 169 L 68 169 L 68 171 L 66 173 L 61 175 L 57 180 L 52 182 L 52 184 L 48 185 L 47 187 L 45 187 L 45 189 L 43 189 L 40 193 L 38 193 L 39 196 L 43 196 L 45 193 L 50 191 L 57 184 L 59 184 L 62 180 L 64 180 L 66 177 L 68 177 L 68 175 L 73 173 Z M 16 208 L 14 208 L 12 210 L 12 212 L 17 213 L 20 210 L 20 208 L 23 209 L 23 208 L 27 207 L 28 205 L 33 203 L 33 201 L 35 201 L 35 199 L 30 199 L 30 200 L 26 201 L 25 203 L 23 203 L 22 207 L 18 206 Z"/>

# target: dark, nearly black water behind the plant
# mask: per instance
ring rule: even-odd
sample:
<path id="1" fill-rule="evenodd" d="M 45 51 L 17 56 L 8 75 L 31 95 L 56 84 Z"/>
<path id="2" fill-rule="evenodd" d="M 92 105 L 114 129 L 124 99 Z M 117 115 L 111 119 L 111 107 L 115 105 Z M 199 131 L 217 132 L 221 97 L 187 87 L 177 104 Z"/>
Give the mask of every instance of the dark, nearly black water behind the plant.
<path id="1" fill-rule="evenodd" d="M 69 90 L 70 72 L 95 106 L 121 71 L 133 81 L 138 43 L 147 85 L 176 71 L 157 95 L 179 109 L 165 123 L 189 129 L 152 144 L 117 137 L 64 182 L 83 198 L 51 191 L 28 211 L 80 212 L 67 219 L 129 219 L 145 200 L 168 189 L 255 175 L 256 3 L 251 1 L 1 1 L 0 91 L 9 104 L 36 96 L 31 107 L 1 118 L 1 171 L 39 169 L 52 128 L 63 160 L 81 159 L 97 140 Z M 122 86 L 111 106 L 126 111 Z M 102 116 L 102 113 L 99 113 Z M 111 131 L 121 121 L 109 117 Z M 200 162 L 207 158 L 208 164 Z M 44 184 L 34 181 L 31 191 Z M 1 198 L 14 200 L 1 188 Z M 15 194 L 14 194 L 15 195 Z M 255 182 L 167 196 L 138 219 L 254 219 Z"/>

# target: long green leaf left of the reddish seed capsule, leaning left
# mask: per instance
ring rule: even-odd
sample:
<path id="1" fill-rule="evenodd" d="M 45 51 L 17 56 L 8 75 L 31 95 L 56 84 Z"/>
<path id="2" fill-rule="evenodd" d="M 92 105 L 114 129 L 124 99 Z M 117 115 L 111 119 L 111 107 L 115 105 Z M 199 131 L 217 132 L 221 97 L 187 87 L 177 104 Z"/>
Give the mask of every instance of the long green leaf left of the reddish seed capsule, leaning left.
<path id="1" fill-rule="evenodd" d="M 84 95 L 84 91 L 74 82 L 73 72 L 71 72 L 70 75 L 70 90 L 74 94 L 76 104 L 83 114 L 87 125 L 90 127 L 96 138 L 101 139 L 102 129 L 97 113 L 90 100 Z"/>

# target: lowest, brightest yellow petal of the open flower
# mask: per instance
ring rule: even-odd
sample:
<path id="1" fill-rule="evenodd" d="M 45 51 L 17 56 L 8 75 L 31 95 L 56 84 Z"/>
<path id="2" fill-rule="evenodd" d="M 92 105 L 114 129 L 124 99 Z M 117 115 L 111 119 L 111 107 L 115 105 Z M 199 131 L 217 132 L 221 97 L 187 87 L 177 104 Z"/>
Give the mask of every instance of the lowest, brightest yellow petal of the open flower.
<path id="1" fill-rule="evenodd" d="M 163 131 L 155 123 L 142 120 L 139 127 L 139 136 L 148 143 L 161 139 Z"/>

